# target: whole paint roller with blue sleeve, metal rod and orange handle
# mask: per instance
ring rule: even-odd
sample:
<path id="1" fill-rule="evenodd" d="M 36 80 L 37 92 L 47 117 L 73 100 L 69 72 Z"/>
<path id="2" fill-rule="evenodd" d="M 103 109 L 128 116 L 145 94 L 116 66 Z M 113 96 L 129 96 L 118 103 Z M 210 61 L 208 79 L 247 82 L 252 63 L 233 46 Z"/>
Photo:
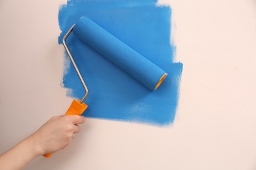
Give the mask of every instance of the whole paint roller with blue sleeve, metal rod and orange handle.
<path id="1" fill-rule="evenodd" d="M 66 112 L 66 115 L 81 115 L 83 111 L 87 109 L 87 105 L 83 103 L 83 101 L 85 101 L 89 92 L 74 59 L 72 58 L 72 54 L 66 45 L 66 39 L 72 32 L 81 41 L 85 42 L 87 46 L 90 46 L 93 50 L 117 65 L 117 67 L 150 90 L 156 90 L 167 76 L 167 73 L 156 64 L 144 58 L 144 56 L 114 37 L 114 35 L 100 27 L 100 25 L 83 16 L 76 24 L 72 25 L 62 40 L 64 48 L 66 49 L 66 52 L 74 65 L 75 71 L 81 80 L 83 88 L 85 89 L 83 98 L 79 101 L 74 99 Z M 45 154 L 43 156 L 45 156 L 45 158 L 50 158 L 51 155 L 52 154 Z"/>

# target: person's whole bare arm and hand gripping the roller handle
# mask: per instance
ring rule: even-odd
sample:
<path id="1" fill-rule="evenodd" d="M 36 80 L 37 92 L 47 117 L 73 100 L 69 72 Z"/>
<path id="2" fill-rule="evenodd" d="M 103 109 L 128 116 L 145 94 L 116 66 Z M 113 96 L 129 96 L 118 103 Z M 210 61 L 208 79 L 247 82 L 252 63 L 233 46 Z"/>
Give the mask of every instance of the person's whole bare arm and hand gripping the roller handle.
<path id="1" fill-rule="evenodd" d="M 80 131 L 77 125 L 83 122 L 83 116 L 54 116 L 30 137 L 0 155 L 0 169 L 22 169 L 37 156 L 65 148 Z"/>

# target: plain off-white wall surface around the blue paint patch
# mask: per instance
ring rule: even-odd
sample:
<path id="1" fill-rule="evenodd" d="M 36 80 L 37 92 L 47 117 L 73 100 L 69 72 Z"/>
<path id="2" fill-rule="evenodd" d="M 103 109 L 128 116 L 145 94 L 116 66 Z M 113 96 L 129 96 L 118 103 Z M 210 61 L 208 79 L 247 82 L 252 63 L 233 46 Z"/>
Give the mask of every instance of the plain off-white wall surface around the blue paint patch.
<path id="1" fill-rule="evenodd" d="M 0 1 L 0 153 L 72 99 L 60 87 L 59 1 Z M 173 126 L 88 119 L 65 150 L 25 169 L 256 169 L 256 1 L 160 3 L 173 8 L 184 64 Z"/>

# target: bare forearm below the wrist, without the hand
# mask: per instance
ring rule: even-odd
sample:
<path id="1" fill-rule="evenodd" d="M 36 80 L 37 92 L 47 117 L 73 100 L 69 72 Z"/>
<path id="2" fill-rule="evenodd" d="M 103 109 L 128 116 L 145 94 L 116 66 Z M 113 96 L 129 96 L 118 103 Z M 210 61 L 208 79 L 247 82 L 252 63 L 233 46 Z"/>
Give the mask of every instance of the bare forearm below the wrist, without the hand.
<path id="1" fill-rule="evenodd" d="M 41 155 L 32 136 L 0 156 L 0 169 L 22 169 L 35 157 Z"/>

